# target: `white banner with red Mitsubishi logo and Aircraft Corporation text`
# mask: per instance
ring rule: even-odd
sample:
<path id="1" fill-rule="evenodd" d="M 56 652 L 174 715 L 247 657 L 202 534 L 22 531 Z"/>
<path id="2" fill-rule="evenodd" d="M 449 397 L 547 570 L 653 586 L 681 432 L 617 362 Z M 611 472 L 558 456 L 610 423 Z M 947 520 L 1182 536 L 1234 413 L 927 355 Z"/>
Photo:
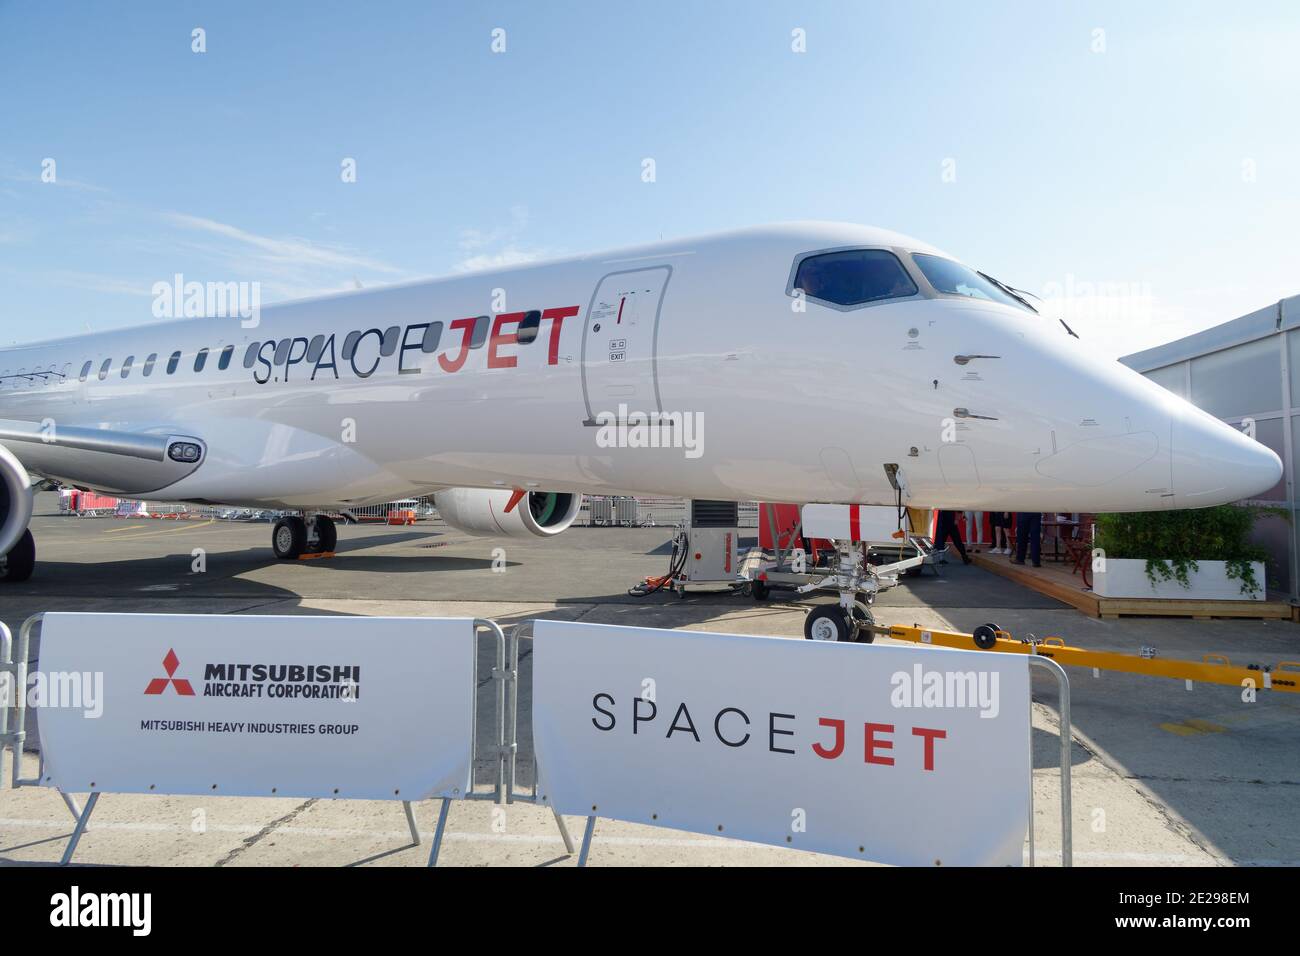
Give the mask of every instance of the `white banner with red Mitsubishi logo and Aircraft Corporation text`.
<path id="1" fill-rule="evenodd" d="M 469 619 L 47 614 L 38 666 L 43 782 L 69 792 L 469 788 Z"/>

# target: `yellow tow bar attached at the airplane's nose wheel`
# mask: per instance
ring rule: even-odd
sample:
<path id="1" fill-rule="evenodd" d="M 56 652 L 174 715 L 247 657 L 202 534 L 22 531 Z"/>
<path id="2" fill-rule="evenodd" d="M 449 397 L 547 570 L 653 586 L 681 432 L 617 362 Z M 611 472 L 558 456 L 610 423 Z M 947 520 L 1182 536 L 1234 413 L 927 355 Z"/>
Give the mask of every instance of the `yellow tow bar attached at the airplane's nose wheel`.
<path id="1" fill-rule="evenodd" d="M 1144 674 L 1149 678 L 1254 687 L 1265 691 L 1300 693 L 1300 661 L 1279 661 L 1275 665 L 1234 665 L 1222 654 L 1205 654 L 1200 661 L 1157 658 L 1154 650 L 1141 654 L 1121 654 L 1113 650 L 1084 650 L 1071 648 L 1061 637 L 1043 640 L 1015 640 L 1008 631 L 992 624 L 976 627 L 974 633 L 931 631 L 922 627 L 896 624 L 878 626 L 876 633 L 913 644 L 932 644 L 959 650 L 1000 650 L 1004 654 L 1037 654 L 1050 657 L 1065 667 L 1092 667 L 1093 671 L 1119 671 Z M 1249 682 L 1249 683 L 1247 683 Z"/>

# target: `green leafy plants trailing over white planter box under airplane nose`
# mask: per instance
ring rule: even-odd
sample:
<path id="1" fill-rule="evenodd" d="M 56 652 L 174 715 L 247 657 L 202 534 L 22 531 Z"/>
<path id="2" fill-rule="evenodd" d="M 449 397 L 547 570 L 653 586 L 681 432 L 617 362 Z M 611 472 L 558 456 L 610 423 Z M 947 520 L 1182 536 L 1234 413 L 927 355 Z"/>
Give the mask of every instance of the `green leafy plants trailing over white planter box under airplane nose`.
<path id="1" fill-rule="evenodd" d="M 1188 574 L 1201 561 L 1222 561 L 1227 576 L 1242 583 L 1243 594 L 1264 587 L 1254 576 L 1254 562 L 1268 551 L 1251 544 L 1251 529 L 1264 515 L 1290 520 L 1279 507 L 1219 505 L 1190 511 L 1144 511 L 1097 515 L 1095 546 L 1108 558 L 1147 562 L 1147 580 L 1176 580 L 1191 587 Z"/>

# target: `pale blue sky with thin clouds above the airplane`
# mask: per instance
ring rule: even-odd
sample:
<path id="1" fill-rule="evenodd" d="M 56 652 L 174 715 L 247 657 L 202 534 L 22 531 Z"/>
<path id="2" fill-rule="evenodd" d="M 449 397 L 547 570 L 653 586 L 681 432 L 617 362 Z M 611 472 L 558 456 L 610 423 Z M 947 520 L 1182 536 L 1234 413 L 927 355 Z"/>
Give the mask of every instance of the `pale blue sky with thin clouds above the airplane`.
<path id="1" fill-rule="evenodd" d="M 0 342 L 177 272 L 266 303 L 833 219 L 1121 354 L 1300 293 L 1297 48 L 1294 3 L 0 0 Z"/>

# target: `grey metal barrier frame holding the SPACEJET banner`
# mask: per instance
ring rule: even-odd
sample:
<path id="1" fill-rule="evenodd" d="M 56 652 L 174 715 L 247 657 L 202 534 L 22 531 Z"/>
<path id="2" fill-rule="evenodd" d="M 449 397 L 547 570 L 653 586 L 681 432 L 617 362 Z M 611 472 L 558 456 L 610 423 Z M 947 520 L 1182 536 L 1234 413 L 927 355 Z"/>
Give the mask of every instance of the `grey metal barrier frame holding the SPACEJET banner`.
<path id="1" fill-rule="evenodd" d="M 507 782 L 507 800 L 510 803 L 520 801 L 529 804 L 540 804 L 541 800 L 537 795 L 538 780 L 541 774 L 533 774 L 533 792 L 530 795 L 515 795 L 515 757 L 519 745 L 519 645 L 524 640 L 533 639 L 533 622 L 525 620 L 517 624 L 511 635 L 511 671 L 512 671 L 512 692 L 508 700 L 510 706 L 510 760 L 506 770 Z M 1039 657 L 1037 654 L 1030 656 L 1030 666 L 1037 665 L 1043 667 L 1048 674 L 1057 679 L 1057 687 L 1060 691 L 1060 724 L 1058 736 L 1061 737 L 1061 865 L 1072 866 L 1074 865 L 1074 827 L 1071 822 L 1071 799 L 1070 799 L 1070 744 L 1074 737 L 1070 722 L 1070 678 L 1066 675 L 1065 669 L 1056 661 L 1046 657 Z M 1034 847 L 1034 688 L 1031 685 L 1028 693 L 1030 708 L 1030 721 L 1028 721 L 1028 740 L 1026 745 L 1030 750 L 1030 817 L 1028 817 L 1028 840 L 1030 840 L 1030 866 L 1035 865 L 1035 847 Z M 537 766 L 537 757 L 534 749 L 533 765 Z M 555 816 L 555 822 L 560 827 L 560 834 L 564 836 L 564 845 L 573 855 L 573 845 L 569 840 L 568 830 L 564 826 L 564 818 L 556 812 L 554 806 L 550 808 L 551 813 Z M 577 865 L 586 866 L 588 860 L 592 856 L 592 840 L 595 836 L 595 816 L 586 817 L 586 825 L 582 829 L 582 845 L 578 849 Z"/>

